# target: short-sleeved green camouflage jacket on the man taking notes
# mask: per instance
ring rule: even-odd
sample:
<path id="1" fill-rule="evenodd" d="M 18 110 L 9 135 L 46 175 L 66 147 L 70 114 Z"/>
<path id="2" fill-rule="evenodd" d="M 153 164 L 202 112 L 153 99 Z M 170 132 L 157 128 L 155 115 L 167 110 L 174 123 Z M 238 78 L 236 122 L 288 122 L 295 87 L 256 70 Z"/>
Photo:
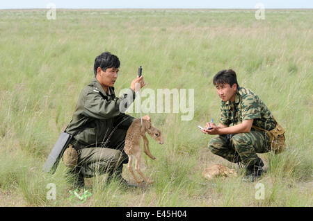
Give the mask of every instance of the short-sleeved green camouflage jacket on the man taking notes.
<path id="1" fill-rule="evenodd" d="M 234 116 L 235 114 L 235 116 Z M 220 105 L 220 123 L 236 125 L 253 119 L 253 124 L 265 130 L 273 130 L 276 121 L 263 101 L 250 89 L 239 87 L 234 102 L 222 100 Z"/>

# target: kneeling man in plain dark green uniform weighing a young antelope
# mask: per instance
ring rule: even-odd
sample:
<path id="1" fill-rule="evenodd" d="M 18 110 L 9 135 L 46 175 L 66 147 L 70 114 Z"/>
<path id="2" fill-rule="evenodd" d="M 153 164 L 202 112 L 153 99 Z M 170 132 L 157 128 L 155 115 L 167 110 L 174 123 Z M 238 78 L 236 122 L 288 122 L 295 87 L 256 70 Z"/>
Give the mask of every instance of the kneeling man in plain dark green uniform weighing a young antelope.
<path id="1" fill-rule="evenodd" d="M 72 134 L 70 144 L 78 154 L 77 166 L 68 173 L 75 188 L 84 186 L 83 177 L 104 173 L 109 173 L 108 181 L 116 177 L 130 186 L 122 178 L 123 163 L 128 162 L 123 150 L 127 129 L 135 118 L 124 112 L 136 97 L 135 85 L 141 88 L 145 82 L 143 76 L 135 78 L 128 91 L 116 97 L 113 86 L 119 67 L 120 60 L 109 52 L 95 58 L 95 78 L 82 89 L 72 121 L 65 130 Z M 151 121 L 150 116 L 143 118 Z"/>

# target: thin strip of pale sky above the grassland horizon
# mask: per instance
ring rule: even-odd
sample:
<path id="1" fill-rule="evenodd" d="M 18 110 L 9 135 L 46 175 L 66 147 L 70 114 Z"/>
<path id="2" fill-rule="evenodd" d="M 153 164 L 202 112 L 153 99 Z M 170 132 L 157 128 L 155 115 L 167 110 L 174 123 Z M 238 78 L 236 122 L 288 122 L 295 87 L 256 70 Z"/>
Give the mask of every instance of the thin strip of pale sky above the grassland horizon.
<path id="1" fill-rule="evenodd" d="M 0 9 L 47 8 L 313 8 L 312 0 L 1 0 Z M 51 7 L 49 7 L 51 8 Z"/>

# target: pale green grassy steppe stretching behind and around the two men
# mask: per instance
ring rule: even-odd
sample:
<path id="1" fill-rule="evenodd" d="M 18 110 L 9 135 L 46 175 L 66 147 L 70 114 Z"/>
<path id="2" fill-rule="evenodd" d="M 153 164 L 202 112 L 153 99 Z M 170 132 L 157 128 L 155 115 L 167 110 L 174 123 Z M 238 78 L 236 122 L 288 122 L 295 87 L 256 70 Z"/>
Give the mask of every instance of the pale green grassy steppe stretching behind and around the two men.
<path id="1" fill-rule="evenodd" d="M 254 10 L 57 10 L 56 20 L 46 13 L 0 11 L 0 206 L 312 206 L 313 10 L 266 10 L 264 20 Z M 181 121 L 144 113 L 166 136 L 162 146 L 150 141 L 157 160 L 143 160 L 154 184 L 124 191 L 95 177 L 81 203 L 69 200 L 62 163 L 55 175 L 42 165 L 103 51 L 122 63 L 116 91 L 143 64 L 146 88 L 193 88 L 195 114 Z M 196 127 L 218 119 L 211 81 L 229 68 L 287 129 L 285 152 L 260 154 L 264 200 L 255 198 L 256 183 L 201 175 L 211 163 L 239 170 L 211 154 L 211 136 Z M 123 176 L 131 180 L 127 170 Z M 56 200 L 47 199 L 49 183 Z"/>

